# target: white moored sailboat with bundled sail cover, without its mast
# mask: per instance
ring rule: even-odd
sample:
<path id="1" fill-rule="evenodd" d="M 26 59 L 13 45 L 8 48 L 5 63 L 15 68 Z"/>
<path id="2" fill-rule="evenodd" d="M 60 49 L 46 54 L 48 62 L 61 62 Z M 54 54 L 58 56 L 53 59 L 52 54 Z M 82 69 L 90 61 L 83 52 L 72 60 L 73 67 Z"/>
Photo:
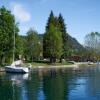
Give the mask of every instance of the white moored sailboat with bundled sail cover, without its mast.
<path id="1" fill-rule="evenodd" d="M 25 67 L 21 63 L 21 60 L 15 61 L 10 66 L 5 66 L 5 71 L 10 73 L 28 73 L 31 65 Z"/>

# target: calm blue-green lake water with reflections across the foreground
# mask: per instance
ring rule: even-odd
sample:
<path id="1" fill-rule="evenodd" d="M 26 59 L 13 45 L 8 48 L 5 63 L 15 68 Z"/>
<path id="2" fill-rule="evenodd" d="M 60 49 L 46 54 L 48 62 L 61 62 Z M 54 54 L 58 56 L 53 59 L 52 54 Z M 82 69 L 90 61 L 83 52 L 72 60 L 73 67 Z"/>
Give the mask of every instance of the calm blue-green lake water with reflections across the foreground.
<path id="1" fill-rule="evenodd" d="M 0 73 L 0 100 L 100 100 L 100 68 Z"/>

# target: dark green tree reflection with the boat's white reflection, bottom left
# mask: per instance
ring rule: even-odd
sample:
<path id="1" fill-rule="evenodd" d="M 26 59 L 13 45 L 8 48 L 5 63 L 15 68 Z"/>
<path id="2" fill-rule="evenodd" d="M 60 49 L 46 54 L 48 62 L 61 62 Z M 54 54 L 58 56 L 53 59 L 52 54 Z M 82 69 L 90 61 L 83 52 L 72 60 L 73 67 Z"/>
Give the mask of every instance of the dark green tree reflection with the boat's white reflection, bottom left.
<path id="1" fill-rule="evenodd" d="M 25 100 L 21 98 L 24 95 L 23 91 L 25 91 L 24 87 L 27 79 L 28 75 L 26 74 L 5 74 L 0 82 L 0 100 Z"/>

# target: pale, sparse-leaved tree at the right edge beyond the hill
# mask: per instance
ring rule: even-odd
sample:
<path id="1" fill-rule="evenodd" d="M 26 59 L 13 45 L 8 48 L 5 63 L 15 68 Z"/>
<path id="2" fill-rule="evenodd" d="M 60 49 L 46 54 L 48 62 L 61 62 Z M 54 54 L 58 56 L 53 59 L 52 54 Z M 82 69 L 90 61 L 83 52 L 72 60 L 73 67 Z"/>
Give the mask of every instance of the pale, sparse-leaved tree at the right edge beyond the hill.
<path id="1" fill-rule="evenodd" d="M 100 33 L 91 32 L 85 36 L 85 48 L 90 54 L 90 59 L 97 59 L 100 56 Z"/>

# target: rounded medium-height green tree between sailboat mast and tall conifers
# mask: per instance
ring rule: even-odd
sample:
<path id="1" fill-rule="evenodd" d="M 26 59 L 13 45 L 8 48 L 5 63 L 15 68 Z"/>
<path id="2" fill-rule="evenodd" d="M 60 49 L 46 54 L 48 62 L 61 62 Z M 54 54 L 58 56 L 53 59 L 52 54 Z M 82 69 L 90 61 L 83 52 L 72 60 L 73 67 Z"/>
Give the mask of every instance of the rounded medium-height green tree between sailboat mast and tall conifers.
<path id="1" fill-rule="evenodd" d="M 27 32 L 27 57 L 33 61 L 40 57 L 41 43 L 39 41 L 38 33 L 33 29 Z"/>

